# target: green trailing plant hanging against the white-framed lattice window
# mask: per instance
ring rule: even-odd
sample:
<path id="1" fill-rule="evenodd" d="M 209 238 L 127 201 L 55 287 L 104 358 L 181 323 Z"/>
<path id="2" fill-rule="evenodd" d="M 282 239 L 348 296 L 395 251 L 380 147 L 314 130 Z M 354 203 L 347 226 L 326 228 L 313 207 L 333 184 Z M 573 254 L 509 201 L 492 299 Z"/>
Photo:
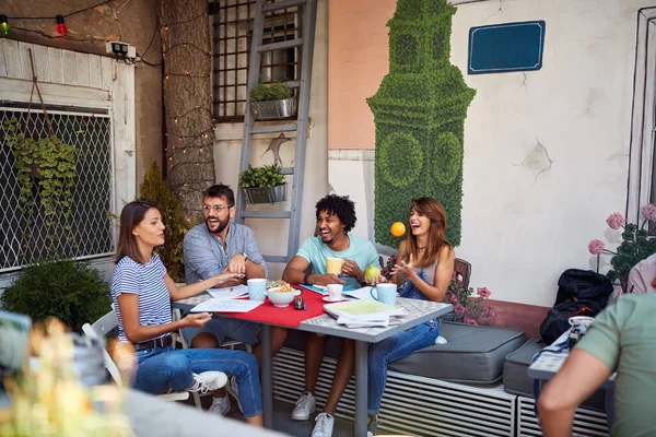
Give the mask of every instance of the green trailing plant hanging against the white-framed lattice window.
<path id="1" fill-rule="evenodd" d="M 25 137 L 23 127 L 15 118 L 4 121 L 4 131 L 15 158 L 14 168 L 20 185 L 19 203 L 26 227 L 33 223 L 36 209 L 33 190 L 37 185 L 45 225 L 49 231 L 48 238 L 57 238 L 55 231 L 62 221 L 66 223 L 65 229 L 71 231 L 72 188 L 77 176 L 75 147 L 62 142 L 54 133 L 39 140 Z"/>

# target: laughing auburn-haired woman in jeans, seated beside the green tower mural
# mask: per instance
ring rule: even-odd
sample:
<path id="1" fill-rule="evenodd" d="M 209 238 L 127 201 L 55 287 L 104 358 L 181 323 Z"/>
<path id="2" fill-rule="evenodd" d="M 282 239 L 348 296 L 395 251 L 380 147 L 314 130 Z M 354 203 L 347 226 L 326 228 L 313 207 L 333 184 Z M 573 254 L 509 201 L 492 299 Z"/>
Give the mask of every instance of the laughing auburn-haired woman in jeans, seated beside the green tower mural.
<path id="1" fill-rule="evenodd" d="M 399 245 L 399 262 L 391 282 L 400 297 L 442 302 L 454 273 L 454 248 L 445 238 L 446 212 L 432 198 L 412 200 L 408 216 L 410 232 Z M 435 343 L 440 334 L 437 319 L 373 343 L 368 351 L 368 430 L 376 432 L 380 399 L 387 381 L 387 364 Z"/>

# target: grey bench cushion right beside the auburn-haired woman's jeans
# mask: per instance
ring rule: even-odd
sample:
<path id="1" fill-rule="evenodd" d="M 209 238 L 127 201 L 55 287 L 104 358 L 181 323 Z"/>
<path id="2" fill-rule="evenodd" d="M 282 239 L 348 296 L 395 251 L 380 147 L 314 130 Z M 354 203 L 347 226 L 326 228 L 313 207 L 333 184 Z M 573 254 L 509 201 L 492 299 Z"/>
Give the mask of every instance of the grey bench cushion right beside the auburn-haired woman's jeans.
<path id="1" fill-rule="evenodd" d="M 525 340 L 518 329 L 453 322 L 442 322 L 440 335 L 448 343 L 417 351 L 389 368 L 453 382 L 495 383 L 502 378 L 505 356 Z"/>

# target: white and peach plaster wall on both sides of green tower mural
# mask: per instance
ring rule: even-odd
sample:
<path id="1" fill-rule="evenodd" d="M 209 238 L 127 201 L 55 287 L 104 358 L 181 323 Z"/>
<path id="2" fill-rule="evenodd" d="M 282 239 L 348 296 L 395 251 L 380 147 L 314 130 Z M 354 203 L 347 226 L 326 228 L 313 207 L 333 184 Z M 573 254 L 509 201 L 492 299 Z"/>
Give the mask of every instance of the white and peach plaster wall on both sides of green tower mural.
<path id="1" fill-rule="evenodd" d="M 462 71 L 470 27 L 547 23 L 540 71 L 465 75 L 477 95 L 465 121 L 462 244 L 456 253 L 473 267 L 471 285 L 487 286 L 492 298 L 551 306 L 562 271 L 593 268 L 587 244 L 604 236 L 609 213 L 625 208 L 636 16 L 653 0 L 454 3 L 452 63 Z M 384 4 L 387 12 L 379 9 Z M 355 26 L 360 11 L 368 11 L 362 14 L 367 28 L 384 28 L 395 5 L 339 0 L 331 2 L 330 17 L 339 12 Z M 380 15 L 379 22 L 372 23 L 373 15 Z M 337 43 L 350 50 L 337 66 L 339 76 L 330 75 L 330 96 L 341 92 L 348 102 L 362 88 L 375 90 L 387 73 L 387 51 L 375 49 L 380 40 L 387 43 L 387 32 L 364 39 L 353 34 L 358 31 L 348 38 L 330 35 L 331 59 Z M 362 68 L 375 63 L 380 66 L 375 73 Z M 339 78 L 348 81 L 340 84 Z M 354 104 L 330 98 L 330 115 L 353 111 L 345 106 Z M 373 140 L 368 146 L 344 146 L 333 139 L 345 143 L 361 138 L 362 130 L 373 139 L 373 117 L 348 117 L 351 131 L 343 135 L 333 132 L 340 127 L 332 121 L 329 182 L 358 200 L 354 233 L 367 237 L 372 172 L 366 160 L 351 156 L 358 151 L 343 149 L 372 149 Z M 602 270 L 608 269 L 605 261 Z"/>

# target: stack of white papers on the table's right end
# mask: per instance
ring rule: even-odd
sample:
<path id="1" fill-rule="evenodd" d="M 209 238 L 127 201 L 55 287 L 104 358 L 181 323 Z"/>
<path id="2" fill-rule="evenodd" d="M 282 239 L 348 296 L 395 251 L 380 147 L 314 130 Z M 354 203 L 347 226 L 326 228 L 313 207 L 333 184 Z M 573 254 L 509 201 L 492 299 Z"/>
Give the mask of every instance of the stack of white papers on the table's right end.
<path id="1" fill-rule="evenodd" d="M 326 312 L 348 328 L 388 327 L 398 324 L 397 316 L 408 314 L 401 307 L 382 304 L 373 299 L 343 302 L 324 306 Z"/>

